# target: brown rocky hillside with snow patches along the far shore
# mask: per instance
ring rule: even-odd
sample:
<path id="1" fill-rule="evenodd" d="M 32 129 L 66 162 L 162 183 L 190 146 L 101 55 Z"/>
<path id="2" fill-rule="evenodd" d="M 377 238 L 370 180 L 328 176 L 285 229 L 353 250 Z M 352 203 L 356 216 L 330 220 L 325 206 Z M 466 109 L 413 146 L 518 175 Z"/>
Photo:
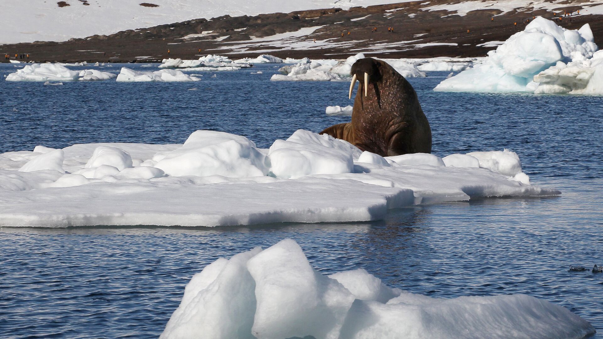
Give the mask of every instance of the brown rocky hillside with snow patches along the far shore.
<path id="1" fill-rule="evenodd" d="M 1 45 L 0 52 L 63 62 L 150 62 L 205 54 L 238 59 L 264 53 L 336 59 L 360 51 L 382 57 L 476 57 L 523 30 L 535 16 L 557 18 L 558 24 L 571 29 L 589 23 L 595 42 L 602 45 L 601 2 L 540 0 L 514 8 L 520 2 L 433 0 L 226 15 L 62 43 Z"/>

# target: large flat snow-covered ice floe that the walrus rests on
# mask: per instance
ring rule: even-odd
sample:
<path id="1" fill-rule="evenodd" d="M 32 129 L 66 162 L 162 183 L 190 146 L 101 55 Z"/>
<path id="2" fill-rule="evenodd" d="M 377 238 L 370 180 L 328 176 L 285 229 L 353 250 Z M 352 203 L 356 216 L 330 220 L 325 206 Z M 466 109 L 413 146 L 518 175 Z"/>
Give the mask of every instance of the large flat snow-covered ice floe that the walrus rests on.
<path id="1" fill-rule="evenodd" d="M 270 149 L 206 130 L 183 145 L 40 145 L 0 154 L 0 226 L 370 221 L 412 204 L 560 194 L 530 185 L 511 151 L 455 157 L 384 158 L 306 130 Z"/>

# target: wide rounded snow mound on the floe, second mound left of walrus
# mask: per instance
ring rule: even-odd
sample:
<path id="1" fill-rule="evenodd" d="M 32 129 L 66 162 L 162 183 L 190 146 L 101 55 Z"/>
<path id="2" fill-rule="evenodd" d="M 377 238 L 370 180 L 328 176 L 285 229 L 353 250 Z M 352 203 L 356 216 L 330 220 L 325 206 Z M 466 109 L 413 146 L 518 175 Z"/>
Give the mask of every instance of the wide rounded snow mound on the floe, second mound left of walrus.
<path id="1" fill-rule="evenodd" d="M 157 168 L 170 176 L 265 176 L 265 156 L 244 136 L 198 130 L 177 150 L 154 157 Z"/>

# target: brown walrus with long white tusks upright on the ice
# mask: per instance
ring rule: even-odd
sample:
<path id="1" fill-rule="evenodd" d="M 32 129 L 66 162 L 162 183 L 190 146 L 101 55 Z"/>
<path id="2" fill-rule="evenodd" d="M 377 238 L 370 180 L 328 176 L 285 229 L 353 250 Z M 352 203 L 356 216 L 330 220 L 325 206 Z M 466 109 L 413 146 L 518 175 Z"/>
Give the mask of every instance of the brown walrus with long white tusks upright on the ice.
<path id="1" fill-rule="evenodd" d="M 431 128 L 411 84 L 388 63 L 364 58 L 352 65 L 349 98 L 356 80 L 352 122 L 320 134 L 343 139 L 380 156 L 431 153 Z M 364 82 L 362 82 L 364 80 Z"/>

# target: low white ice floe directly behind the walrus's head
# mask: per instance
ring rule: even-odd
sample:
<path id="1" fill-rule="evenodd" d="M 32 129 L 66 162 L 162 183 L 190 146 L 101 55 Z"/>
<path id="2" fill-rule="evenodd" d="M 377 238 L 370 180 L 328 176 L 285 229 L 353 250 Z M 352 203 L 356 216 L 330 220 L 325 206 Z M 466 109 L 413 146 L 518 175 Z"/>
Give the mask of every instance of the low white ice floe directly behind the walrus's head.
<path id="1" fill-rule="evenodd" d="M 365 56 L 362 53 L 352 55 L 344 62 L 336 60 L 301 60 L 297 65 L 283 66 L 279 69 L 281 74 L 274 74 L 270 80 L 272 81 L 337 81 L 347 80 L 350 77 L 352 65 L 358 59 L 363 59 Z M 421 72 L 414 65 L 403 62 L 397 59 L 384 59 L 403 77 L 425 77 L 426 74 Z"/>

